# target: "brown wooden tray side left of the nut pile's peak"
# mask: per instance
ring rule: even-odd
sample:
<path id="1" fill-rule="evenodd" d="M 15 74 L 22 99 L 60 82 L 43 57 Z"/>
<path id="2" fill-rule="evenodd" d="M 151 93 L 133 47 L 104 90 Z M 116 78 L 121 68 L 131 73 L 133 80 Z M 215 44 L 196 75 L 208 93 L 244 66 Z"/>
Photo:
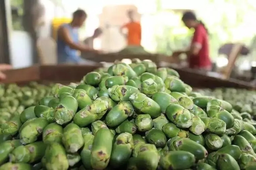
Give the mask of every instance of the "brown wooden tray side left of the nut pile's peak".
<path id="1" fill-rule="evenodd" d="M 1 83 L 26 84 L 37 82 L 79 82 L 84 75 L 102 65 L 36 65 L 32 67 L 7 70 L 7 79 Z"/>

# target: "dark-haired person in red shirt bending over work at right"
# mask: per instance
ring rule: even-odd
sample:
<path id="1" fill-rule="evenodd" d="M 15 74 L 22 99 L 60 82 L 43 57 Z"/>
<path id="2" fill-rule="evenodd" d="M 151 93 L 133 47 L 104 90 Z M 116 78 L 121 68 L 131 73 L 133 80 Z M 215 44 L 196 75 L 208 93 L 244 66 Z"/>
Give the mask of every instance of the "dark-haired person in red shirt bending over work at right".
<path id="1" fill-rule="evenodd" d="M 209 57 L 208 30 L 202 21 L 197 20 L 196 15 L 187 11 L 182 16 L 182 21 L 189 29 L 194 28 L 194 36 L 188 51 L 176 51 L 173 57 L 178 57 L 181 53 L 187 54 L 190 68 L 211 70 L 212 63 Z"/>

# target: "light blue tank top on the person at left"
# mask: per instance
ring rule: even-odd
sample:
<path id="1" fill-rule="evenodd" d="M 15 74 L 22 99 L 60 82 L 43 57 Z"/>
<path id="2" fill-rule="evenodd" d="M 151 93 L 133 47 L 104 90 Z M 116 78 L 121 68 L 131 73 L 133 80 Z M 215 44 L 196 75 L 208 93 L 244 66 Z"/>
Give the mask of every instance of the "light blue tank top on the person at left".
<path id="1" fill-rule="evenodd" d="M 69 34 L 74 43 L 79 43 L 78 29 L 71 27 L 70 24 L 63 24 L 61 27 L 65 27 L 69 30 Z M 57 51 L 58 51 L 58 63 L 79 63 L 81 58 L 78 55 L 78 51 L 70 48 L 61 38 L 57 38 Z"/>

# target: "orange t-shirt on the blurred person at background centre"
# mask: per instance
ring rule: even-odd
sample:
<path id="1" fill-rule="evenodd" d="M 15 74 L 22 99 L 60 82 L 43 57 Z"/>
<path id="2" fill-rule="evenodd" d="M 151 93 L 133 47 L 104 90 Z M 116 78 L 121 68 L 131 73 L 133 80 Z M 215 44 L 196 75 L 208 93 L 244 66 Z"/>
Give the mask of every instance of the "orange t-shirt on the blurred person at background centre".
<path id="1" fill-rule="evenodd" d="M 122 28 L 127 28 L 127 45 L 140 46 L 141 26 L 139 22 L 129 22 Z"/>

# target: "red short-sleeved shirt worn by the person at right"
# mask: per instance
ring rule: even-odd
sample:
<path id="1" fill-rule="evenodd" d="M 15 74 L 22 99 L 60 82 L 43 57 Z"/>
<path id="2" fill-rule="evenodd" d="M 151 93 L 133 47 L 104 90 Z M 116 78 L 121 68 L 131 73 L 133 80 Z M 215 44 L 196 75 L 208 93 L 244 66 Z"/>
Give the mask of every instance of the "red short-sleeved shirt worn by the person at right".
<path id="1" fill-rule="evenodd" d="M 209 57 L 208 33 L 202 24 L 195 28 L 191 45 L 200 46 L 201 49 L 197 55 L 191 55 L 188 58 L 190 68 L 209 68 L 211 60 Z"/>

